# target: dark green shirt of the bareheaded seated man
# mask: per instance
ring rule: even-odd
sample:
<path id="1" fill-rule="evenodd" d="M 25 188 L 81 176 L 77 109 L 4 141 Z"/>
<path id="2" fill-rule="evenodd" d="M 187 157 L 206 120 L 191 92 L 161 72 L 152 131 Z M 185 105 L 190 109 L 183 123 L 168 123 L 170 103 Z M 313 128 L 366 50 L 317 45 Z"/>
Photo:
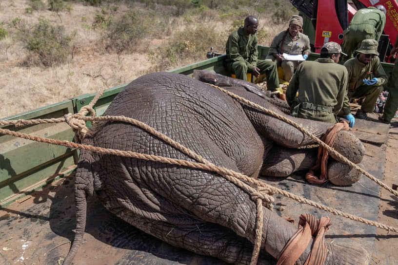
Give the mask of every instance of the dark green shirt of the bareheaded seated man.
<path id="1" fill-rule="evenodd" d="M 259 52 L 257 50 L 257 35 L 246 36 L 243 27 L 231 33 L 225 44 L 226 62 L 246 62 L 247 68 L 252 70 L 257 66 Z"/>

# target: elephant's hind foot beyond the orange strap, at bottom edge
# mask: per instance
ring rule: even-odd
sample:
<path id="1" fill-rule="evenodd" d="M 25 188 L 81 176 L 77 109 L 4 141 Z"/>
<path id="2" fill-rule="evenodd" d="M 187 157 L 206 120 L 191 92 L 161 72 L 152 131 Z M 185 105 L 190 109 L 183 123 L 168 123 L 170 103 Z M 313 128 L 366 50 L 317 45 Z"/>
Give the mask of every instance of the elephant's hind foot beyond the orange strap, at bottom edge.
<path id="1" fill-rule="evenodd" d="M 360 246 L 341 246 L 335 243 L 326 243 L 328 254 L 325 265 L 368 265 L 369 254 Z"/>

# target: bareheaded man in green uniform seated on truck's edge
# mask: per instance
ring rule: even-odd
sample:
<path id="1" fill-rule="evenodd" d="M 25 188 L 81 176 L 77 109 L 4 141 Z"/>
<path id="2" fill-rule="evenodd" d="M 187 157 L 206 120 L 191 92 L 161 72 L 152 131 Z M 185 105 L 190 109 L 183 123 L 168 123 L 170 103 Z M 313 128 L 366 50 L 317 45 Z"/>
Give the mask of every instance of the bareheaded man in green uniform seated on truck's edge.
<path id="1" fill-rule="evenodd" d="M 258 26 L 259 20 L 254 16 L 248 16 L 244 20 L 243 27 L 231 33 L 225 45 L 226 66 L 237 78 L 243 80 L 247 80 L 248 72 L 256 77 L 265 74 L 267 89 L 273 91 L 279 88 L 277 64 L 258 58 L 256 35 Z"/>

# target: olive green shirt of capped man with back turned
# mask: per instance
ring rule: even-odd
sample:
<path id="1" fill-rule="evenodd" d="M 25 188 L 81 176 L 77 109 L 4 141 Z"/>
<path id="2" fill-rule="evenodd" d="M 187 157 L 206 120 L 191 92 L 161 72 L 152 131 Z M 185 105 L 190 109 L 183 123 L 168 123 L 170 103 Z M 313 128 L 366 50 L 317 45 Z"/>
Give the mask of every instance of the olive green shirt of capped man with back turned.
<path id="1" fill-rule="evenodd" d="M 292 107 L 301 102 L 310 102 L 333 107 L 333 113 L 338 114 L 343 102 L 348 101 L 347 80 L 347 69 L 333 59 L 304 61 L 297 67 L 287 87 L 287 103 Z M 299 96 L 296 98 L 297 91 Z"/>

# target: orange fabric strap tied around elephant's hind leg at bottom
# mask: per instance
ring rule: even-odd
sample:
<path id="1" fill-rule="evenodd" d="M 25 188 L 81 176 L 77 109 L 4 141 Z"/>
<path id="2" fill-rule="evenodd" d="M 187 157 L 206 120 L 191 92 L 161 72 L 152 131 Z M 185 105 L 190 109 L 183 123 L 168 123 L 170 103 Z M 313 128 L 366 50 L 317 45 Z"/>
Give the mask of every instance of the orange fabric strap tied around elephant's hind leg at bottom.
<path id="1" fill-rule="evenodd" d="M 331 223 L 332 221 L 329 217 L 322 217 L 318 220 L 314 215 L 301 214 L 299 230 L 280 251 L 277 265 L 294 265 L 307 247 L 312 236 L 315 236 L 315 240 L 304 265 L 323 265 L 327 255 L 325 232 L 329 229 Z"/>

